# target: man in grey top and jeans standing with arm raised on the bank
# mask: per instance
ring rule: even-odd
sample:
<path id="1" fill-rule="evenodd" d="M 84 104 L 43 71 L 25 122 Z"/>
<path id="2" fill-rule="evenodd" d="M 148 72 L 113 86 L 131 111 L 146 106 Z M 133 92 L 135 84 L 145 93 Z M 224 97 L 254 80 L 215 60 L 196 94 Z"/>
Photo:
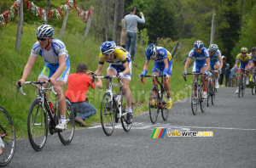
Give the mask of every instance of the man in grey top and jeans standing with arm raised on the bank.
<path id="1" fill-rule="evenodd" d="M 136 43 L 137 43 L 137 23 L 145 23 L 145 18 L 142 12 L 140 19 L 136 13 L 136 7 L 131 7 L 130 14 L 125 16 L 125 31 L 126 31 L 126 44 L 125 49 L 129 52 L 131 46 L 131 60 L 134 61 L 134 56 L 136 52 Z"/>

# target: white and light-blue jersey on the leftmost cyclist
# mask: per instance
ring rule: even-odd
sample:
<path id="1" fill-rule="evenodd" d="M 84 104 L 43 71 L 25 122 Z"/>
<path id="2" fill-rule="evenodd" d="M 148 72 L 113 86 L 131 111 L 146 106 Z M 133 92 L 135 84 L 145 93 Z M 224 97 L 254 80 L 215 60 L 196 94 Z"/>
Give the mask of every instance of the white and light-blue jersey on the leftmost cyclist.
<path id="1" fill-rule="evenodd" d="M 63 42 L 58 39 L 52 39 L 51 41 L 52 48 L 47 51 L 44 48 L 40 47 L 39 42 L 36 42 L 31 51 L 31 55 L 37 57 L 38 54 L 44 59 L 45 64 L 58 64 L 59 55 L 66 54 L 66 61 L 69 60 L 69 55 L 67 54 L 66 46 Z"/>

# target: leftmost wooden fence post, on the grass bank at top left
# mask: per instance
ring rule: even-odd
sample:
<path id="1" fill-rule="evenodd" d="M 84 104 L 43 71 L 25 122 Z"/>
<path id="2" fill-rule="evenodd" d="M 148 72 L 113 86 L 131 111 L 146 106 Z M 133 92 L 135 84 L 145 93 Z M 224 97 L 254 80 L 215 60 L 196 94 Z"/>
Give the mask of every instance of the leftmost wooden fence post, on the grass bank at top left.
<path id="1" fill-rule="evenodd" d="M 23 0 L 21 0 L 20 7 L 19 7 L 19 22 L 18 22 L 18 30 L 17 30 L 17 36 L 16 36 L 16 44 L 15 44 L 16 51 L 20 51 L 22 30 L 23 30 Z"/>

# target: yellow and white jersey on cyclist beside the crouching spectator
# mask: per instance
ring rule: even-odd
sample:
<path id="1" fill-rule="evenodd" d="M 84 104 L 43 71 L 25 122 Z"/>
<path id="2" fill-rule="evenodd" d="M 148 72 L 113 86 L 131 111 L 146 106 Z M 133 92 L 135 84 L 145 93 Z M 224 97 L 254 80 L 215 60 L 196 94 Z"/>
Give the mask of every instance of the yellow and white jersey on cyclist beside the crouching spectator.
<path id="1" fill-rule="evenodd" d="M 100 53 L 99 64 L 104 64 L 105 61 L 111 64 L 119 65 L 124 64 L 126 61 L 131 59 L 131 55 L 129 52 L 125 50 L 125 48 L 121 48 L 117 46 L 114 50 L 113 58 L 110 60 L 105 60 L 103 53 Z"/>

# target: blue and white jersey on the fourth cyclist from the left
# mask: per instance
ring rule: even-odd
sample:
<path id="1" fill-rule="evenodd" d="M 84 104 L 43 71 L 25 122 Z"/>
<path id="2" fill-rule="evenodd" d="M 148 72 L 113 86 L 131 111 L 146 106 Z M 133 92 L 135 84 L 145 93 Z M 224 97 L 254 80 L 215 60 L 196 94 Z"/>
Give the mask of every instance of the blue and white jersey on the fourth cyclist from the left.
<path id="1" fill-rule="evenodd" d="M 195 48 L 191 49 L 189 52 L 189 58 L 195 57 L 195 64 L 203 65 L 206 64 L 206 59 L 209 58 L 209 52 L 207 48 L 202 48 L 201 53 L 196 53 Z"/>

